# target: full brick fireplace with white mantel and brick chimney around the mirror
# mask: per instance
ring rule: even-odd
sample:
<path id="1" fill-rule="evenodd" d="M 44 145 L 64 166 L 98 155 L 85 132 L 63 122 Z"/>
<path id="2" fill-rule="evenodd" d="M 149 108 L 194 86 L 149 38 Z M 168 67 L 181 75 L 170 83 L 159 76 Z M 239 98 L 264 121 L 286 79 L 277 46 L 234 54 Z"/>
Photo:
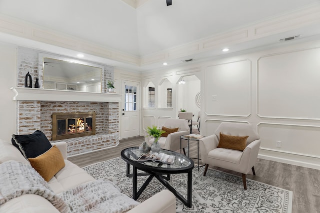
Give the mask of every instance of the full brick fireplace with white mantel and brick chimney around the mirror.
<path id="1" fill-rule="evenodd" d="M 121 95 L 106 93 L 107 80 L 113 79 L 113 67 L 98 64 L 104 67 L 101 93 L 43 89 L 43 55 L 47 54 L 64 58 L 26 47 L 17 48 L 17 87 L 11 88 L 16 101 L 16 134 L 41 130 L 52 141 L 52 113 L 95 112 L 95 135 L 61 139 L 67 143 L 67 155 L 116 146 L 119 143 Z M 35 78 L 39 79 L 39 89 L 24 87 L 27 72 L 32 76 L 33 84 Z"/>

